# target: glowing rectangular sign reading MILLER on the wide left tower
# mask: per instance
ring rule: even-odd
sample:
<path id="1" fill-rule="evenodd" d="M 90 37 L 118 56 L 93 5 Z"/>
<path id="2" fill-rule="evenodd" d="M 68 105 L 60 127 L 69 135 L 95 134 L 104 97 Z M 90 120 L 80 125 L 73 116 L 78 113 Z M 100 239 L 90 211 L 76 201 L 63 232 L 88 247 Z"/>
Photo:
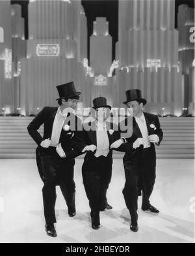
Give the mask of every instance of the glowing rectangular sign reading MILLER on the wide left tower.
<path id="1" fill-rule="evenodd" d="M 37 56 L 59 56 L 60 46 L 59 44 L 37 44 L 36 54 Z"/>

